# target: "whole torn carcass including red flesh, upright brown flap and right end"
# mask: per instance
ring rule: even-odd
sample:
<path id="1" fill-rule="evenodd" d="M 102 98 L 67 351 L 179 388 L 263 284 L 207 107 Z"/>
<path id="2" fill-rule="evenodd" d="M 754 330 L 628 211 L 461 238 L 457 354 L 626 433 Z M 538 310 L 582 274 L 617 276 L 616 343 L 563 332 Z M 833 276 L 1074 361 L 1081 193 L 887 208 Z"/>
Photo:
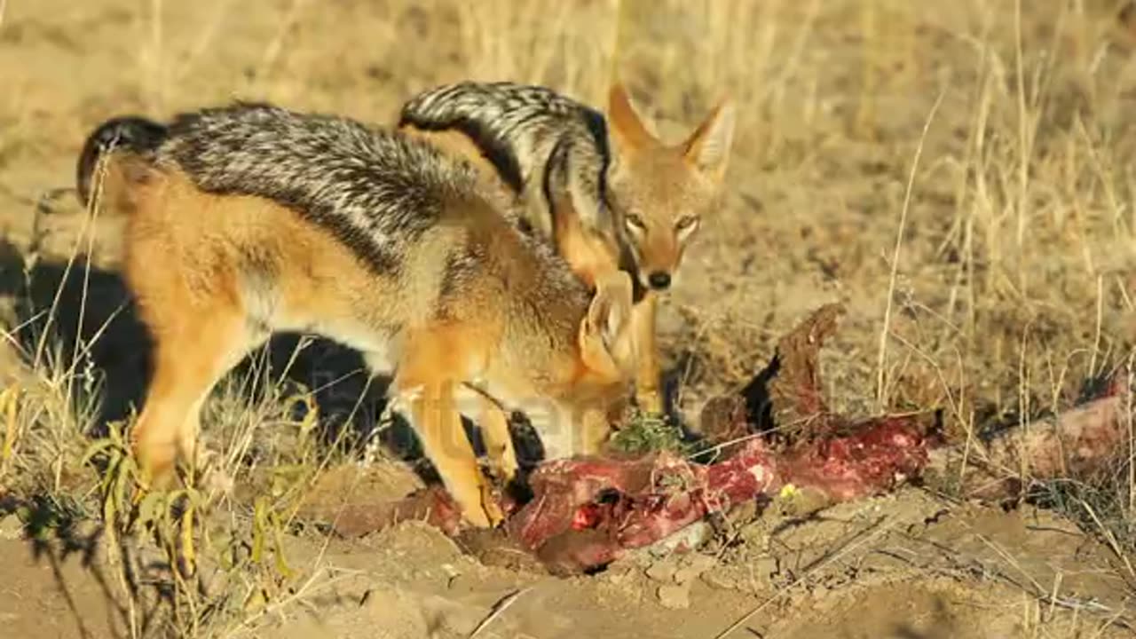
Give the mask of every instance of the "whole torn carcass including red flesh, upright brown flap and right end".
<path id="1" fill-rule="evenodd" d="M 510 513 L 506 534 L 554 573 L 586 572 L 787 483 L 838 501 L 889 490 L 928 465 L 938 472 L 949 467 L 958 455 L 938 434 L 937 413 L 853 422 L 828 410 L 818 358 L 840 310 L 835 305 L 820 308 L 778 342 L 770 365 L 742 395 L 708 405 L 703 432 L 726 442 L 713 451 L 718 458 L 692 460 L 655 453 L 634 459 L 542 464 L 529 475 L 533 498 L 519 507 L 502 504 Z M 1021 467 L 1019 462 L 1026 459 L 1038 475 L 1053 476 L 1071 451 L 1075 463 L 1092 466 L 1125 439 L 1120 390 L 1121 384 L 1113 383 L 1103 398 L 1034 424 L 1025 433 L 971 442 L 968 459 L 984 460 L 992 468 Z M 699 463 L 707 460 L 711 463 Z M 988 471 L 988 475 L 1005 473 Z M 987 493 L 992 486 L 1004 490 L 982 473 L 972 476 Z M 436 489 L 371 520 L 387 523 L 415 514 L 448 534 L 458 532 L 457 507 Z"/>

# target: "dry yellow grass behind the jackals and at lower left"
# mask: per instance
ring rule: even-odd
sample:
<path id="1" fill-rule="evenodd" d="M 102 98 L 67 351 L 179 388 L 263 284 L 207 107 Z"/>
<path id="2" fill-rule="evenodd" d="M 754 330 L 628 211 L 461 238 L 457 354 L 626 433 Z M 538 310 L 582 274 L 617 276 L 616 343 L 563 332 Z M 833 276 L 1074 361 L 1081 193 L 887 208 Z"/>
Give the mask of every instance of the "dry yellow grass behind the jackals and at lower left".
<path id="1" fill-rule="evenodd" d="M 240 96 L 389 122 L 438 82 L 507 77 L 599 102 L 618 75 L 671 139 L 724 92 L 740 106 L 721 217 L 665 309 L 688 412 L 744 383 L 780 332 L 833 299 L 850 308 L 825 356 L 826 392 L 842 410 L 945 406 L 952 431 L 971 438 L 1067 408 L 1086 381 L 1130 365 L 1136 49 L 1111 0 L 292 0 L 249 19 L 225 0 L 107 3 L 126 44 L 95 58 L 117 60 L 118 75 L 36 88 L 47 67 L 32 65 L 7 81 L 0 171 L 11 173 L 0 196 L 16 217 L 32 193 L 67 185 L 82 135 L 112 113 L 160 117 Z M 22 5 L 0 1 L 0 42 L 20 30 L 10 38 L 40 47 L 51 20 Z M 100 15 L 68 7 L 57 19 L 74 30 Z M 44 157 L 49 177 L 16 171 Z M 37 259 L 116 265 L 98 224 L 55 238 L 20 224 L 8 235 L 43 256 L 25 254 L 18 280 Z M 17 288 L 32 297 L 35 284 Z M 234 376 L 207 409 L 215 468 L 267 497 L 183 493 L 140 515 L 116 440 L 90 449 L 87 435 L 106 434 L 107 338 L 94 326 L 59 341 L 89 322 L 55 302 L 37 310 L 9 325 L 20 364 L 0 393 L 0 497 L 16 496 L 43 530 L 101 520 L 123 537 L 148 532 L 157 548 L 200 546 L 239 586 L 203 589 L 167 571 L 164 623 L 186 636 L 235 632 L 314 588 L 306 580 L 318 571 L 293 574 L 267 557 L 304 488 L 349 448 L 317 438 L 318 393 L 279 382 L 279 366 Z M 1109 543 L 1136 581 L 1133 451 L 1118 459 L 1104 476 L 1043 487 L 1043 499 Z M 198 517 L 190 532 L 186 513 Z M 229 561 L 244 546 L 261 553 Z M 1044 628 L 1043 605 L 1022 616 Z"/>

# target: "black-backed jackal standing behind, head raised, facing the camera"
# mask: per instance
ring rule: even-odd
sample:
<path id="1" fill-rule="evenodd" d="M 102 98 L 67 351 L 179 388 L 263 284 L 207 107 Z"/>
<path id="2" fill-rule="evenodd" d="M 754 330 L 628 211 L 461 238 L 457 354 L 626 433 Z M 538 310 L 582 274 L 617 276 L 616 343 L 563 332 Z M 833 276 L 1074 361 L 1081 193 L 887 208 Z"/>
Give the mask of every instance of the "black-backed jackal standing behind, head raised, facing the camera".
<path id="1" fill-rule="evenodd" d="M 632 274 L 636 399 L 661 412 L 655 294 L 670 288 L 687 244 L 718 205 L 733 105 L 722 100 L 686 140 L 666 144 L 619 84 L 604 119 L 542 86 L 461 82 L 412 98 L 399 128 L 475 161 L 520 198 L 525 225 L 550 238 L 590 282 L 616 268 Z"/>

